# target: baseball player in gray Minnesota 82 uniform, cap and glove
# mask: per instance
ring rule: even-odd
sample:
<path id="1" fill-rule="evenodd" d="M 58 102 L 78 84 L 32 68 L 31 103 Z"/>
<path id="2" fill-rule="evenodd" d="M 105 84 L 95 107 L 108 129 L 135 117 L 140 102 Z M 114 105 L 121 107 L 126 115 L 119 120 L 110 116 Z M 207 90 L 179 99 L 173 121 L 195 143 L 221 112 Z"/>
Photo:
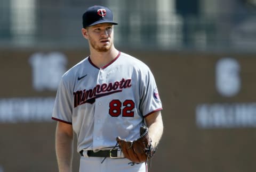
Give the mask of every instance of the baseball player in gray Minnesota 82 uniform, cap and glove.
<path id="1" fill-rule="evenodd" d="M 149 67 L 118 51 L 113 14 L 83 14 L 90 55 L 61 78 L 52 119 L 59 171 L 71 171 L 73 132 L 79 171 L 147 171 L 163 133 L 162 104 Z"/>

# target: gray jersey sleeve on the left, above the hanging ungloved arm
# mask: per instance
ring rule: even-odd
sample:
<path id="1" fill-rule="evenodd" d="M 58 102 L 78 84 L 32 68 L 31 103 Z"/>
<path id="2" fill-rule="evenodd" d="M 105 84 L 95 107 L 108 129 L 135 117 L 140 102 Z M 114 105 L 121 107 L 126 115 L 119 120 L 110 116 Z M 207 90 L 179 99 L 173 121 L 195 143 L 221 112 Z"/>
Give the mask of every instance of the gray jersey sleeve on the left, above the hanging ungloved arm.
<path id="1" fill-rule="evenodd" d="M 53 106 L 52 119 L 72 124 L 72 95 L 72 92 L 68 89 L 68 85 L 62 77 Z"/>

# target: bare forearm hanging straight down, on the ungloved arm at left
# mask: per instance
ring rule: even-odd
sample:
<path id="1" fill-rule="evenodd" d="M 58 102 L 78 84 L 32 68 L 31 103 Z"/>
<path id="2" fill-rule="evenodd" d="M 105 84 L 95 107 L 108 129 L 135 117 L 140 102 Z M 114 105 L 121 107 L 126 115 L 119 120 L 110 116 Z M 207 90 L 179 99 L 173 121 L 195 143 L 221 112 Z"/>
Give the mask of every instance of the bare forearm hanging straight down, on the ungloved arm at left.
<path id="1" fill-rule="evenodd" d="M 73 159 L 73 137 L 70 137 L 67 134 L 57 133 L 55 149 L 59 172 L 71 172 Z"/>

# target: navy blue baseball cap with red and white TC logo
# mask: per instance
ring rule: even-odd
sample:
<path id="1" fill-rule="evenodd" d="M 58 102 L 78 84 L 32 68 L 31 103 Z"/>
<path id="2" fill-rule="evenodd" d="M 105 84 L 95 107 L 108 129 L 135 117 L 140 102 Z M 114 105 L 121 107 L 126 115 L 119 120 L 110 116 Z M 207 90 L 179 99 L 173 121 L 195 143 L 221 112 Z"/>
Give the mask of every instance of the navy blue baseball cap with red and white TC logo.
<path id="1" fill-rule="evenodd" d="M 118 24 L 113 22 L 113 14 L 109 8 L 99 5 L 87 8 L 83 14 L 83 27 L 85 28 L 99 23 Z"/>

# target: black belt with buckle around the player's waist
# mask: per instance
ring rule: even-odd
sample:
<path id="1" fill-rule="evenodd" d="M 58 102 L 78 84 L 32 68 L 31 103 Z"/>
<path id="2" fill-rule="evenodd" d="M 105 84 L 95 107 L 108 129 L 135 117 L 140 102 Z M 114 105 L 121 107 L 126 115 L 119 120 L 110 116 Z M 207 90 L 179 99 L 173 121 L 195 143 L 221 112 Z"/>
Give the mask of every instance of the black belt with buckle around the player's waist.
<path id="1" fill-rule="evenodd" d="M 83 150 L 80 151 L 81 156 L 84 156 Z M 117 158 L 117 149 L 113 150 L 100 150 L 98 152 L 93 152 L 92 150 L 87 151 L 87 156 L 89 157 L 110 157 Z"/>

